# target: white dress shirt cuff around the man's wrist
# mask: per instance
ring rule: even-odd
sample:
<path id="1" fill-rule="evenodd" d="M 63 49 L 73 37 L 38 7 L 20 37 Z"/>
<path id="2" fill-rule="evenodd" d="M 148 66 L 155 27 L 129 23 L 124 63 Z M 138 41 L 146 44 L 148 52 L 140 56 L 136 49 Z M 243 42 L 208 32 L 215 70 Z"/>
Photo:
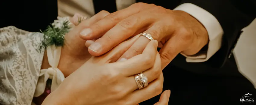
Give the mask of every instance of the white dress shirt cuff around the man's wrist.
<path id="1" fill-rule="evenodd" d="M 182 55 L 186 57 L 187 62 L 207 61 L 221 47 L 223 29 L 220 26 L 220 23 L 211 13 L 195 4 L 184 3 L 176 7 L 174 10 L 182 10 L 195 17 L 205 27 L 209 35 L 207 51 L 199 51 L 195 55 Z"/>

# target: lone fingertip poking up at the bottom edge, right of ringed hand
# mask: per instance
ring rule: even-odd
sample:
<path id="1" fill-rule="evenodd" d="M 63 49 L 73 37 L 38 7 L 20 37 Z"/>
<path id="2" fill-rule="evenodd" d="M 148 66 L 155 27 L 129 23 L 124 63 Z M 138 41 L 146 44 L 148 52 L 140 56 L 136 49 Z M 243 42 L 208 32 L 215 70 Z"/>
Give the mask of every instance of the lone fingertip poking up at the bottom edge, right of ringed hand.
<path id="1" fill-rule="evenodd" d="M 168 105 L 169 98 L 170 98 L 171 91 L 166 90 L 161 94 L 161 97 L 159 99 L 159 102 L 157 102 L 154 105 Z"/>

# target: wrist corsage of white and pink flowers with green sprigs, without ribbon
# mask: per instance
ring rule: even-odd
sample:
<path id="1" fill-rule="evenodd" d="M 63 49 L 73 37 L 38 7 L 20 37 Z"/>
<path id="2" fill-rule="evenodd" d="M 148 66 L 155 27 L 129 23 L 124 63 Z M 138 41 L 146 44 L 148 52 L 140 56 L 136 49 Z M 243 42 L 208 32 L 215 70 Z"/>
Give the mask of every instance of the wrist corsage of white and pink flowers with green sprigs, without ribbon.
<path id="1" fill-rule="evenodd" d="M 70 22 L 70 19 L 73 19 L 73 23 Z M 79 14 L 75 14 L 72 18 L 58 16 L 57 20 L 54 20 L 51 25 L 47 26 L 46 30 L 40 30 L 43 33 L 43 40 L 39 44 L 39 51 L 41 51 L 42 49 L 46 49 L 47 46 L 63 46 L 65 41 L 65 34 L 85 19 L 86 18 L 84 16 Z"/>

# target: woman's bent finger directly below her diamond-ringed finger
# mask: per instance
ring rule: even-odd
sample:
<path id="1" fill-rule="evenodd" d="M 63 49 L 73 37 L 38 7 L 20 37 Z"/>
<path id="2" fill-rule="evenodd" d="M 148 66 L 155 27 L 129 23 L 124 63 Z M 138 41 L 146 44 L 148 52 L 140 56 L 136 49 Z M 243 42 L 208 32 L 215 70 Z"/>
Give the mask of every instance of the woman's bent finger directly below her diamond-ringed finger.
<path id="1" fill-rule="evenodd" d="M 163 83 L 164 76 L 161 72 L 161 75 L 156 80 L 149 83 L 146 88 L 133 91 L 130 95 L 128 95 L 127 99 L 125 99 L 126 104 L 128 103 L 128 105 L 135 105 L 161 94 L 163 90 Z"/>

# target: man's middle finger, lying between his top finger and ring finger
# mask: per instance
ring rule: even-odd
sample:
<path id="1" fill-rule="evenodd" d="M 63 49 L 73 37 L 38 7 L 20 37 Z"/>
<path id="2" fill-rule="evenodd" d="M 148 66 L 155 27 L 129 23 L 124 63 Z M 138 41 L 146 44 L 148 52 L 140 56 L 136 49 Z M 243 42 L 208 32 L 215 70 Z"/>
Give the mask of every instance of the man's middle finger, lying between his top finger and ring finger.
<path id="1" fill-rule="evenodd" d="M 116 26 L 89 46 L 89 53 L 93 56 L 102 55 L 127 38 L 143 32 L 143 30 L 146 30 L 148 28 L 147 26 L 150 26 L 155 20 L 155 15 L 150 15 L 148 11 L 129 16 L 117 23 Z"/>

